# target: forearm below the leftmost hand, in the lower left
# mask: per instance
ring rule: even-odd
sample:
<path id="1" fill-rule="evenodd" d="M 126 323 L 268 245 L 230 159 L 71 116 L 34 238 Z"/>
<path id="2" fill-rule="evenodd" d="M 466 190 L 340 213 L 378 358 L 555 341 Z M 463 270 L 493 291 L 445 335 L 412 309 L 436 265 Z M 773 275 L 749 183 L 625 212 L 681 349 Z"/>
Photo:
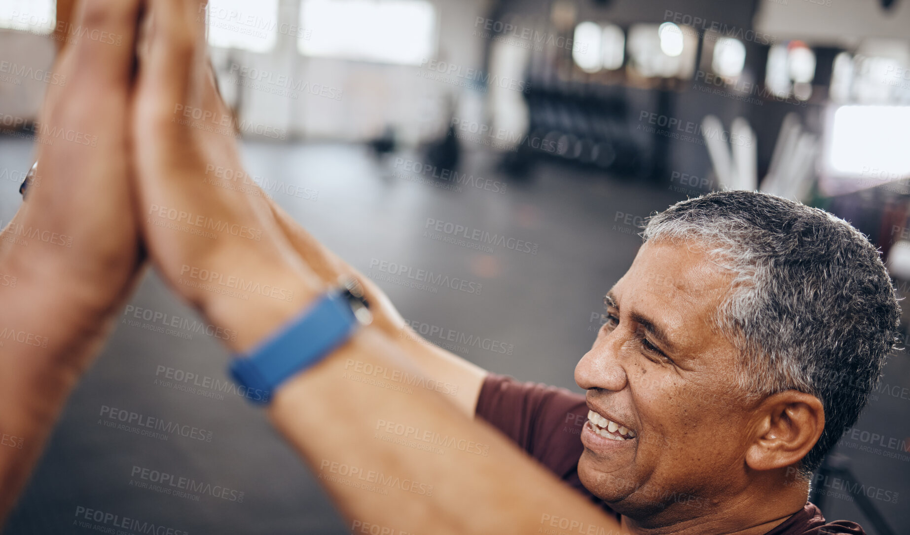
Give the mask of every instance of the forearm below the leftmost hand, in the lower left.
<path id="1" fill-rule="evenodd" d="M 20 249 L 0 253 L 0 525 L 110 329 L 66 274 Z"/>

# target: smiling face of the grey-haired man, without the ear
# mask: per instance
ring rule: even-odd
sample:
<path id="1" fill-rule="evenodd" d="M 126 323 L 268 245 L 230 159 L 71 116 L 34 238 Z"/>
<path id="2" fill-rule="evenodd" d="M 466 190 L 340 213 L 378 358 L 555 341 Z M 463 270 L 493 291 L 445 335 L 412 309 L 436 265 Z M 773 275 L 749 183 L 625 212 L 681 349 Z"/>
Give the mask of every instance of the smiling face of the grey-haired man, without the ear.
<path id="1" fill-rule="evenodd" d="M 592 411 L 581 482 L 642 525 L 697 518 L 749 485 L 753 407 L 733 386 L 736 348 L 711 325 L 731 280 L 698 248 L 647 242 L 575 368 Z"/>

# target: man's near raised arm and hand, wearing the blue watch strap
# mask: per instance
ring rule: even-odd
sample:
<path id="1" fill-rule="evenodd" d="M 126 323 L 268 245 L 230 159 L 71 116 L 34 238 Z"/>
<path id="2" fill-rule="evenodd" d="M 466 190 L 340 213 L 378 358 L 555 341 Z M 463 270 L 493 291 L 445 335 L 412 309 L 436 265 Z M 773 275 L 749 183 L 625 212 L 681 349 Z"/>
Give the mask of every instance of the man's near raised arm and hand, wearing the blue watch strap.
<path id="1" fill-rule="evenodd" d="M 194 23 L 199 3 L 151 5 L 155 41 L 140 67 L 134 123 L 145 139 L 137 182 L 143 235 L 172 288 L 213 323 L 237 329 L 231 348 L 243 352 L 328 285 L 298 255 L 265 199 L 204 184 L 207 158 L 242 167 L 229 136 L 175 117 L 187 106 L 206 115 L 198 86 L 207 73 L 198 63 L 205 43 Z M 221 230 L 209 236 L 198 225 Z M 241 301 L 187 284 L 194 270 L 283 291 Z M 279 388 L 269 409 L 352 528 L 367 522 L 395 533 L 529 533 L 552 530 L 557 519 L 566 531 L 618 530 L 615 520 L 440 392 L 366 388 L 347 375 L 356 362 L 421 374 L 415 347 L 388 327 L 363 328 Z"/>

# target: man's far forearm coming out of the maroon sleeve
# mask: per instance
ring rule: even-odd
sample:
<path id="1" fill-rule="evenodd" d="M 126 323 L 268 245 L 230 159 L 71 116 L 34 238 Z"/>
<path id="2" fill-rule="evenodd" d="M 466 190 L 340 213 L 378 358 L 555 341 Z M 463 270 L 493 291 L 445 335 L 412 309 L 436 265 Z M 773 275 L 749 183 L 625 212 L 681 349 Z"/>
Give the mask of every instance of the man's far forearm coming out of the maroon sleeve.
<path id="1" fill-rule="evenodd" d="M 439 386 L 438 391 L 449 396 L 462 413 L 473 417 L 487 371 L 421 337 L 410 328 L 399 311 L 392 305 L 389 296 L 372 280 L 364 277 L 357 269 L 329 250 L 329 247 L 321 244 L 274 201 L 270 200 L 269 203 L 275 219 L 278 221 L 278 227 L 288 237 L 288 241 L 298 255 L 319 275 L 319 278 L 322 278 L 327 284 L 334 284 L 340 276 L 357 278 L 369 300 L 375 325 L 381 328 L 389 338 L 395 339 L 401 348 L 407 349 L 410 361 L 423 370 L 427 379 L 430 379 L 434 386 Z M 365 378 L 388 379 L 386 374 L 379 374 L 382 377 L 369 378 L 370 375 L 377 375 L 376 369 L 366 368 L 362 362 L 353 364 L 349 372 L 360 373 L 364 370 L 370 372 L 361 374 Z"/>

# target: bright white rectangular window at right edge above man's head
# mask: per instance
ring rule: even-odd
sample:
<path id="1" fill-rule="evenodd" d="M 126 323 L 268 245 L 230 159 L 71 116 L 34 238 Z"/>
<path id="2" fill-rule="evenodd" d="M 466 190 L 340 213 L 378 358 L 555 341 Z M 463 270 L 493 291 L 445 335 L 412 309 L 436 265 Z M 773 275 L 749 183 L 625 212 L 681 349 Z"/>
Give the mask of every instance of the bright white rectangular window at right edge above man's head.
<path id="1" fill-rule="evenodd" d="M 840 175 L 910 177 L 910 106 L 841 106 L 834 112 L 828 163 Z"/>

